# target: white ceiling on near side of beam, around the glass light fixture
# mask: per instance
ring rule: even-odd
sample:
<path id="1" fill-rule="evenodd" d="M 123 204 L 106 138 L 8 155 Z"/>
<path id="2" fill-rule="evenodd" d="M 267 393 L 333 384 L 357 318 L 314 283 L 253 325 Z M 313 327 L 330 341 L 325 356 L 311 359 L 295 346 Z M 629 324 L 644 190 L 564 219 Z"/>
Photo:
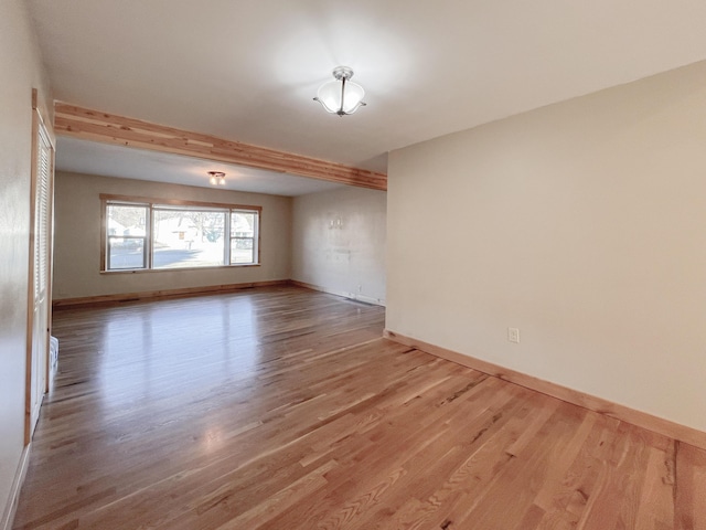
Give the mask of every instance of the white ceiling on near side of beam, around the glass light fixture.
<path id="1" fill-rule="evenodd" d="M 383 172 L 389 150 L 706 59 L 697 0 L 28 3 L 57 99 Z M 312 100 L 339 64 L 367 103 L 343 118 Z"/>

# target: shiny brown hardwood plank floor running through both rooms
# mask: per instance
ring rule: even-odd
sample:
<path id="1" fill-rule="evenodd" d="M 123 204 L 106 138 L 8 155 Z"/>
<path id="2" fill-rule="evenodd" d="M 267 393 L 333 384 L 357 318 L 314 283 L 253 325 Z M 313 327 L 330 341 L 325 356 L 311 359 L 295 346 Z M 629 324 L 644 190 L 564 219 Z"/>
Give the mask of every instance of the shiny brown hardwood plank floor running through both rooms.
<path id="1" fill-rule="evenodd" d="M 706 452 L 297 287 L 54 315 L 17 529 L 706 529 Z"/>

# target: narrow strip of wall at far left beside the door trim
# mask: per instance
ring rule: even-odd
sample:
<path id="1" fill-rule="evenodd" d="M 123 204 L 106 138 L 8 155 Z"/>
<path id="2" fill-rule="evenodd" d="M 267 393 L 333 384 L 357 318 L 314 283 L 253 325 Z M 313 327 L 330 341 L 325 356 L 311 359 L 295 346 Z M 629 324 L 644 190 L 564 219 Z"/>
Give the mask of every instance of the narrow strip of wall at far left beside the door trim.
<path id="1" fill-rule="evenodd" d="M 32 88 L 49 86 L 26 7 L 0 0 L 0 528 L 24 447 Z M 51 123 L 51 116 L 44 114 Z M 4 512 L 4 516 L 2 515 Z"/>

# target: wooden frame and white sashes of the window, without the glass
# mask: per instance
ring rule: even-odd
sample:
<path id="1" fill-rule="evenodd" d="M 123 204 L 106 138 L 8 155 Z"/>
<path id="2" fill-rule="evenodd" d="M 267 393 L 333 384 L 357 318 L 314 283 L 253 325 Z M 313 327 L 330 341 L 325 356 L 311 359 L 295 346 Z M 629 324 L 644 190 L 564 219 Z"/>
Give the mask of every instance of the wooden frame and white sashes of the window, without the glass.
<path id="1" fill-rule="evenodd" d="M 263 218 L 263 206 L 252 204 L 231 204 L 218 202 L 202 202 L 202 201 L 188 201 L 181 199 L 156 199 L 135 195 L 116 195 L 100 193 L 100 273 L 106 274 L 120 274 L 120 273 L 160 273 L 160 272 L 174 272 L 174 271 L 200 271 L 200 269 L 214 269 L 214 268 L 232 268 L 232 267 L 259 267 L 260 259 L 260 227 Z M 135 236 L 135 239 L 143 237 L 143 266 L 137 268 L 109 268 L 109 240 L 110 237 L 120 237 L 118 235 L 108 234 L 108 206 L 122 205 L 122 206 L 137 206 L 146 208 L 146 222 L 145 222 L 145 236 Z M 154 211 L 159 210 L 190 210 L 195 211 L 213 211 L 225 213 L 224 225 L 224 245 L 223 245 L 223 264 L 220 265 L 202 265 L 191 267 L 160 267 L 153 266 L 153 237 L 154 232 Z M 233 213 L 253 213 L 255 214 L 255 229 L 253 235 L 253 263 L 232 263 L 231 256 L 231 216 Z M 125 239 L 125 236 L 122 236 Z M 132 236 L 130 236 L 132 239 Z"/>

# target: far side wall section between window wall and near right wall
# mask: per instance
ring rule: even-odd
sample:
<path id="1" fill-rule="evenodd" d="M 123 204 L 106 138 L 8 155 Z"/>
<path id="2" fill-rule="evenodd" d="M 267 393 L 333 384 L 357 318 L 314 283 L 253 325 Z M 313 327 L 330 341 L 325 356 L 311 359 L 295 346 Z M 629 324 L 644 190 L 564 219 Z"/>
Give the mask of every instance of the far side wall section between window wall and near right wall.
<path id="1" fill-rule="evenodd" d="M 295 198 L 291 278 L 385 305 L 386 202 L 352 187 Z"/>

